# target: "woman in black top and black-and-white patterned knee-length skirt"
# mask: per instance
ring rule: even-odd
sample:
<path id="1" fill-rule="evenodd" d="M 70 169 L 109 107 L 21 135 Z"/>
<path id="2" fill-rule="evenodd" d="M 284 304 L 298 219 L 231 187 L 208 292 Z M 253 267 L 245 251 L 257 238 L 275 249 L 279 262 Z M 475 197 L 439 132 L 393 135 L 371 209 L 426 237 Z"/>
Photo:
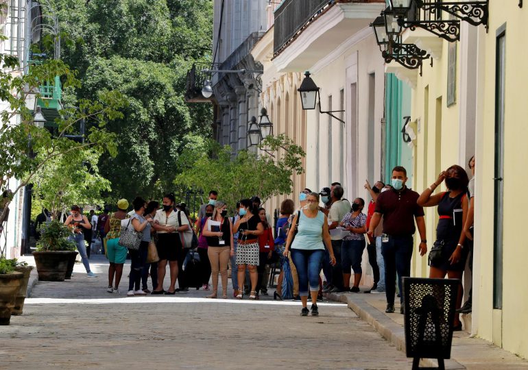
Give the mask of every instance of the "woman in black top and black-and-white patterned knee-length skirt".
<path id="1" fill-rule="evenodd" d="M 237 265 L 239 291 L 237 299 L 243 297 L 243 286 L 246 267 L 250 270 L 251 291 L 250 299 L 256 298 L 256 282 L 258 276 L 256 267 L 259 266 L 259 235 L 264 232 L 257 210 L 253 208 L 250 199 L 242 199 L 239 209 L 240 219 L 233 226 L 234 232 L 239 232 L 237 243 Z"/>

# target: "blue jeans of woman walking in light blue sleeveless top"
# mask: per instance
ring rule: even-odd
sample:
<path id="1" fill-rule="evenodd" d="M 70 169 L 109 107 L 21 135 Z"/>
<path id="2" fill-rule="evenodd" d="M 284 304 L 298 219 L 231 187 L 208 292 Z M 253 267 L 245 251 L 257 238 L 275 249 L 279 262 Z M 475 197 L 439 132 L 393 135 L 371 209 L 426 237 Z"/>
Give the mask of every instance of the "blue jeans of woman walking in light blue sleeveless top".
<path id="1" fill-rule="evenodd" d="M 324 249 L 291 249 L 291 260 L 297 269 L 301 297 L 308 296 L 308 286 L 311 292 L 319 291 L 319 273 L 323 257 Z"/>

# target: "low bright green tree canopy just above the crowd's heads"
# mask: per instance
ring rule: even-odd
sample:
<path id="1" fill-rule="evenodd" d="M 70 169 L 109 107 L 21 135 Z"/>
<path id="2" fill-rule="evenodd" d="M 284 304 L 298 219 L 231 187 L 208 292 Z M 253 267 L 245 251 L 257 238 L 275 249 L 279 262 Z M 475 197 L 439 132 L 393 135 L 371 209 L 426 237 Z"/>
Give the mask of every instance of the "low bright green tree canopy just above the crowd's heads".
<path id="1" fill-rule="evenodd" d="M 268 136 L 260 145 L 266 149 L 262 156 L 244 150 L 231 158 L 231 148 L 206 143 L 207 150 L 185 151 L 182 173 L 176 176 L 177 186 L 216 189 L 219 199 L 233 210 L 242 198 L 259 195 L 264 203 L 270 197 L 291 193 L 293 173 L 303 173 L 302 148 L 280 134 Z"/>

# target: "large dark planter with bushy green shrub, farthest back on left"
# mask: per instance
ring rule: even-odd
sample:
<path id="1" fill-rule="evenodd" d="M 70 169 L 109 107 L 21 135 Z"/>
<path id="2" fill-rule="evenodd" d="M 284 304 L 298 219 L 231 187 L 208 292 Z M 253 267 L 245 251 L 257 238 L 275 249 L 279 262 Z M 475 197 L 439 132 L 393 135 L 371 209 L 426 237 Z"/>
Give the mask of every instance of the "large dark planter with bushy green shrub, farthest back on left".
<path id="1" fill-rule="evenodd" d="M 77 254 L 70 235 L 69 228 L 56 220 L 40 226 L 40 240 L 33 252 L 38 280 L 64 281 L 71 256 Z"/>

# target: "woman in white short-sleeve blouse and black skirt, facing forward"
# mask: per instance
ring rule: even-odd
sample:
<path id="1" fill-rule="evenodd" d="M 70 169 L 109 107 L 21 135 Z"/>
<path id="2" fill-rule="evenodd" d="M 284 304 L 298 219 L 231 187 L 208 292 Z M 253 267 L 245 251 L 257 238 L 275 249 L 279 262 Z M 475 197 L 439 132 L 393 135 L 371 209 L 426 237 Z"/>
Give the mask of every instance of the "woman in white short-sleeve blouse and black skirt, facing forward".
<path id="1" fill-rule="evenodd" d="M 176 198 L 172 193 L 163 196 L 163 208 L 156 212 L 152 227 L 158 234 L 158 286 L 152 294 L 174 295 L 176 293 L 176 278 L 178 277 L 178 258 L 181 258 L 182 242 L 178 235 L 179 229 L 185 230 L 189 225 L 178 227 L 178 212 L 174 210 Z M 187 218 L 186 218 L 187 219 Z M 171 284 L 169 290 L 163 290 L 163 280 L 165 279 L 165 269 L 169 262 L 169 273 Z"/>

